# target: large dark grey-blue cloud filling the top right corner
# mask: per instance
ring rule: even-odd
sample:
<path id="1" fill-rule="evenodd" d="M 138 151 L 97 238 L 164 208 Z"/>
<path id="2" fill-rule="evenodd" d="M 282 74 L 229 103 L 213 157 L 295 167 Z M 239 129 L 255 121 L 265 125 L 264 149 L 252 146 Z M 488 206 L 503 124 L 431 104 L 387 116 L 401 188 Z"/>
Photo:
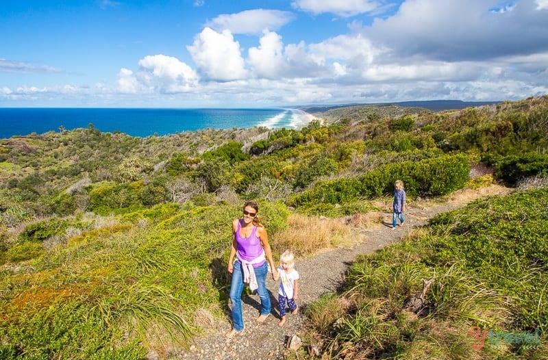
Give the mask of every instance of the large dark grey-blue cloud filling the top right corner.
<path id="1" fill-rule="evenodd" d="M 546 14 L 534 7 L 534 0 L 502 5 L 498 0 L 407 0 L 397 14 L 375 19 L 363 34 L 392 49 L 395 57 L 473 61 L 534 53 L 548 48 Z"/>

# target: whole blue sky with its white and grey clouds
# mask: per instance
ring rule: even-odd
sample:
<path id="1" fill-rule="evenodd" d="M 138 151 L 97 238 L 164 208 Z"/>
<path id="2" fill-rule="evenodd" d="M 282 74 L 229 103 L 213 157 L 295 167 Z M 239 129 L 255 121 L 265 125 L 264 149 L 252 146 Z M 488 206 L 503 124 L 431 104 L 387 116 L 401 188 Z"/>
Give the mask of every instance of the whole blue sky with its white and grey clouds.
<path id="1" fill-rule="evenodd" d="M 0 107 L 548 94 L 548 0 L 2 0 L 0 34 Z"/>

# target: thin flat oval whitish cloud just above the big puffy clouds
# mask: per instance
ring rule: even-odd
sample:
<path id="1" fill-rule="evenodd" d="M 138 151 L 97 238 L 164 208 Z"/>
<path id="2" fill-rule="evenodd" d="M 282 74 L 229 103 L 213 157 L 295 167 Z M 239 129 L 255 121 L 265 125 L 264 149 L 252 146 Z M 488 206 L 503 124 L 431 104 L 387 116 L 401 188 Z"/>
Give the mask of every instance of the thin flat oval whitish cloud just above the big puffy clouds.
<path id="1" fill-rule="evenodd" d="M 262 31 L 276 30 L 293 20 L 295 16 L 280 10 L 245 10 L 237 14 L 222 14 L 206 23 L 216 31 L 229 30 L 232 34 L 261 34 Z"/>

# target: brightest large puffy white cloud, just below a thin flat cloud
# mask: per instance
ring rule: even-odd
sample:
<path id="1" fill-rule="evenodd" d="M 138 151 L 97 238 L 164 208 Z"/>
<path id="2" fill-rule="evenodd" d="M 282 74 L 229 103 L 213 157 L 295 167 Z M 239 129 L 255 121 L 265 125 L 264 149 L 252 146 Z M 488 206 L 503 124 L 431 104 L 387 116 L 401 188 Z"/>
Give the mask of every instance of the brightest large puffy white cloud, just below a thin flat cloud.
<path id="1" fill-rule="evenodd" d="M 247 75 L 240 44 L 229 30 L 218 33 L 206 27 L 195 37 L 192 46 L 186 49 L 199 71 L 208 79 L 231 81 Z"/>

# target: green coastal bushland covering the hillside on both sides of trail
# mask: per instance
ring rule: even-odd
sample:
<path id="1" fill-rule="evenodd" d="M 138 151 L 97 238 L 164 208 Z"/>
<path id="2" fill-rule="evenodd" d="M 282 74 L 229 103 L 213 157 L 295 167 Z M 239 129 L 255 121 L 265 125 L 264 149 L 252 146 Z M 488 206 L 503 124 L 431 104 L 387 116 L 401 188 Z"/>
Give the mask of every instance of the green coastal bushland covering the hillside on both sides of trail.
<path id="1" fill-rule="evenodd" d="M 90 125 L 0 140 L 0 357 L 140 359 L 149 347 L 184 346 L 185 339 L 224 316 L 229 224 L 239 216 L 245 199 L 260 202 L 276 254 L 290 246 L 308 256 L 319 247 L 344 243 L 351 229 L 340 225 L 338 218 L 377 211 L 371 202 L 391 196 L 395 179 L 406 183 L 412 201 L 486 181 L 513 186 L 528 177 L 543 179 L 547 172 L 548 97 L 438 113 L 373 106 L 338 109 L 336 114 L 336 122 L 314 121 L 299 130 L 206 129 L 140 139 L 101 133 Z M 488 179 L 469 181 L 474 168 L 486 169 Z M 532 209 L 538 210 L 537 194 L 544 195 L 523 196 L 530 196 L 536 204 Z M 519 198 L 512 201 L 516 211 L 522 209 Z M 412 281 L 396 281 L 397 292 L 386 290 L 399 303 L 387 297 L 382 286 L 371 292 L 377 298 L 360 311 L 357 305 L 343 306 L 336 297 L 322 299 L 343 304 L 334 311 L 343 319 L 336 323 L 337 329 L 348 329 L 344 324 L 357 326 L 345 315 L 347 310 L 360 319 L 359 324 L 384 326 L 385 302 L 395 309 L 388 314 L 399 314 L 401 324 L 408 326 L 403 341 L 399 330 L 390 326 L 389 339 L 371 337 L 378 329 L 362 325 L 360 333 L 343 331 L 345 335 L 320 326 L 326 339 L 334 336 L 326 340 L 329 351 L 342 354 L 341 344 L 347 341 L 372 342 L 377 354 L 399 351 L 387 344 L 420 348 L 429 336 L 429 323 L 417 322 L 414 327 L 403 319 L 405 313 L 396 310 L 401 294 L 416 290 L 419 274 L 427 276 L 433 268 L 438 269 L 436 274 L 445 274 L 449 285 L 438 289 L 440 281 L 436 281 L 432 294 L 438 297 L 432 301 L 451 297 L 443 291 L 479 289 L 476 272 L 484 282 L 479 299 L 499 294 L 500 288 L 508 290 L 512 281 L 544 279 L 543 246 L 532 232 L 536 224 L 543 233 L 545 211 L 537 217 L 527 215 L 522 223 L 517 212 L 506 214 L 514 205 L 497 206 L 499 218 L 505 219 L 501 222 L 508 227 L 486 229 L 486 237 L 474 235 L 481 240 L 465 242 L 479 226 L 476 222 L 491 223 L 479 218 L 483 210 L 471 207 L 468 211 L 477 212 L 477 217 L 468 218 L 466 226 L 462 220 L 466 212 L 438 218 L 425 239 L 439 244 L 417 246 L 424 254 L 401 257 L 400 250 L 386 250 L 375 255 L 390 254 L 383 260 L 386 267 L 379 270 L 390 268 L 412 277 Z M 319 220 L 321 216 L 331 220 Z M 534 220 L 530 223 L 530 219 Z M 461 233 L 442 231 L 453 224 Z M 314 236 L 303 230 L 310 227 L 318 229 Z M 496 229 L 503 231 L 497 235 Z M 446 238 L 458 246 L 440 245 Z M 490 242 L 492 238 L 497 241 Z M 536 253 L 512 247 L 523 240 Z M 488 263 L 470 261 L 474 254 L 483 260 L 490 253 L 497 255 L 497 261 L 498 257 L 510 261 L 508 266 L 521 261 L 516 269 L 528 270 L 512 273 L 505 283 L 501 276 L 495 279 L 500 261 L 493 258 L 493 276 L 488 277 L 480 271 Z M 389 266 L 402 261 L 403 268 Z M 375 272 L 371 282 L 380 284 L 392 276 Z M 464 282 L 459 285 L 456 279 Z M 518 289 L 523 290 L 523 298 L 513 298 L 519 297 L 517 291 L 504 292 L 512 298 L 511 306 L 495 313 L 489 326 L 544 333 L 543 310 L 527 314 L 535 301 L 539 304 L 538 293 L 529 287 Z M 451 320 L 453 313 L 473 314 L 458 322 L 458 331 L 484 321 L 466 307 L 473 299 L 458 303 L 459 299 L 435 307 L 438 314 L 449 314 L 442 319 Z M 332 323 L 322 326 L 327 325 Z M 447 337 L 451 334 L 455 332 L 448 331 Z"/>

